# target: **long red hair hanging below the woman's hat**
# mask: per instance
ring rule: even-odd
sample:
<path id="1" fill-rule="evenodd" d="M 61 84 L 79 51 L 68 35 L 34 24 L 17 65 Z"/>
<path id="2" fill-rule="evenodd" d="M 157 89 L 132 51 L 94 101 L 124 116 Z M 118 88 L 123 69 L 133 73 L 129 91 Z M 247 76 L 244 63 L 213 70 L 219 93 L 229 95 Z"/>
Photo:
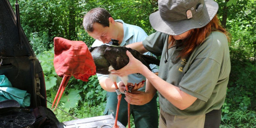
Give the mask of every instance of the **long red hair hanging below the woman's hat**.
<path id="1" fill-rule="evenodd" d="M 199 44 L 203 43 L 205 38 L 210 35 L 212 31 L 220 31 L 223 32 L 226 37 L 228 38 L 228 41 L 230 41 L 229 33 L 220 25 L 219 19 L 217 17 L 217 14 L 213 17 L 213 19 L 204 27 L 202 28 L 194 28 L 192 30 L 189 30 L 190 32 L 188 34 L 192 34 L 186 42 L 184 42 L 184 49 L 181 51 L 180 55 L 178 57 L 186 57 L 189 55 L 193 50 L 198 46 Z M 172 35 L 169 36 L 168 40 L 170 48 L 171 46 L 175 45 L 175 39 Z"/>

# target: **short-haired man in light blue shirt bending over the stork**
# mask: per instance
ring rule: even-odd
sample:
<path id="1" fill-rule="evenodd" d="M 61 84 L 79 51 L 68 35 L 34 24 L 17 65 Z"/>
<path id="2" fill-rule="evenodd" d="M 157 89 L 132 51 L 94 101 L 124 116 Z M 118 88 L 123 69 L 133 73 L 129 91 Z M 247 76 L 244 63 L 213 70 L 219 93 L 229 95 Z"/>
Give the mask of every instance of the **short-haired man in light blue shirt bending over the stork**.
<path id="1" fill-rule="evenodd" d="M 83 18 L 83 27 L 85 31 L 95 39 L 92 47 L 97 47 L 105 43 L 111 42 L 111 39 L 119 40 L 120 46 L 126 46 L 134 42 L 143 41 L 148 35 L 146 32 L 135 25 L 126 24 L 122 20 L 114 20 L 111 14 L 103 8 L 93 8 Z M 145 55 L 151 55 L 150 52 L 145 53 Z M 156 65 L 150 65 L 150 68 L 156 74 L 158 73 L 158 67 Z M 98 74 L 98 80 L 101 87 L 107 91 L 106 97 L 106 108 L 104 111 L 105 115 L 116 114 L 116 106 L 118 103 L 117 94 L 115 92 L 115 85 L 113 81 L 109 78 L 108 75 Z M 136 85 L 138 91 L 133 91 L 133 93 L 140 93 L 145 91 L 148 95 L 142 95 L 138 102 L 144 105 L 131 105 L 130 111 L 133 115 L 134 123 L 136 128 L 157 128 L 158 127 L 158 109 L 156 103 L 156 90 L 150 90 L 152 88 L 150 82 L 146 82 L 146 87 L 142 88 L 140 83 L 146 78 L 141 74 L 131 74 L 128 75 L 128 85 Z M 117 85 L 120 88 L 121 93 L 125 90 L 123 82 L 120 78 L 116 81 Z M 136 84 L 138 83 L 138 84 Z M 125 95 L 121 94 L 121 103 L 118 113 L 118 121 L 124 126 L 128 123 L 128 110 L 127 102 L 125 101 Z M 153 97 L 153 98 L 152 98 Z M 151 100 L 152 99 L 152 100 Z M 150 115 L 150 116 L 149 116 Z"/>

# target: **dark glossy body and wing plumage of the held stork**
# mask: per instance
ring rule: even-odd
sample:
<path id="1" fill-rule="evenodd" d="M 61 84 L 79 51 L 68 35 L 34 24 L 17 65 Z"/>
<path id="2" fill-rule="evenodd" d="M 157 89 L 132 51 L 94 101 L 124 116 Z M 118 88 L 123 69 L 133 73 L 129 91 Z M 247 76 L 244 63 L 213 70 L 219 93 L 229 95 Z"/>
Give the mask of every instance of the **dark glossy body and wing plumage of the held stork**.
<path id="1" fill-rule="evenodd" d="M 144 65 L 151 70 L 150 64 L 159 65 L 160 60 L 153 56 L 143 55 L 140 52 L 127 47 L 111 47 L 108 45 L 101 45 L 100 47 L 89 47 L 89 51 L 93 57 L 96 65 L 96 73 L 110 74 L 109 66 L 112 66 L 115 70 L 123 68 L 129 63 L 129 58 L 126 55 L 126 51 L 131 52 L 133 57 L 140 60 Z"/>

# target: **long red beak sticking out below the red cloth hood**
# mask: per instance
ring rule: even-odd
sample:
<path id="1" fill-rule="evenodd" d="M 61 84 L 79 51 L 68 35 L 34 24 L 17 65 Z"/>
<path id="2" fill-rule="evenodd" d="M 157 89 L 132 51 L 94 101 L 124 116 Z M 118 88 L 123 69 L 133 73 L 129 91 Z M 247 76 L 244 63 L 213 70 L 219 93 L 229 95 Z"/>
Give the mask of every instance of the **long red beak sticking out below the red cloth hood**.
<path id="1" fill-rule="evenodd" d="M 58 91 L 57 91 L 57 94 L 56 94 L 56 96 L 55 96 L 55 98 L 54 98 L 54 101 L 53 101 L 53 103 L 52 103 L 52 108 L 53 108 L 53 106 L 54 106 L 54 104 L 55 104 L 55 102 L 56 102 L 56 100 L 57 100 L 57 98 L 58 98 L 58 96 L 59 96 L 59 93 L 60 93 L 60 96 L 59 96 L 59 98 L 58 98 L 58 101 L 57 101 L 57 103 L 56 103 L 55 108 L 54 108 L 53 111 L 55 111 L 55 109 L 57 108 L 58 103 L 60 102 L 60 98 L 62 97 L 62 94 L 63 94 L 63 92 L 64 92 L 64 90 L 65 90 L 65 88 L 66 88 L 66 85 L 68 84 L 68 80 L 70 79 L 70 77 L 71 77 L 71 76 L 65 76 L 65 75 L 63 76 L 62 83 L 60 83 L 60 87 L 59 87 L 59 89 L 58 89 Z"/>

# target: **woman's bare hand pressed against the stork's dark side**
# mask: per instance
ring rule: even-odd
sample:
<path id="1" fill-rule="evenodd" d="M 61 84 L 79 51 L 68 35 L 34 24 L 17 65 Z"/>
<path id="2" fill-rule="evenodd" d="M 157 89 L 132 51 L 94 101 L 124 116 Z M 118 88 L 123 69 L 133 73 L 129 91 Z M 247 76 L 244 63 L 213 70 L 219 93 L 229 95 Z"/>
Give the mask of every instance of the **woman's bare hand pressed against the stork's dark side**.
<path id="1" fill-rule="evenodd" d="M 141 73 L 145 68 L 148 69 L 143 63 L 133 57 L 129 51 L 126 51 L 126 55 L 129 57 L 129 63 L 120 70 L 111 70 L 111 74 L 123 77 L 134 73 Z"/>

